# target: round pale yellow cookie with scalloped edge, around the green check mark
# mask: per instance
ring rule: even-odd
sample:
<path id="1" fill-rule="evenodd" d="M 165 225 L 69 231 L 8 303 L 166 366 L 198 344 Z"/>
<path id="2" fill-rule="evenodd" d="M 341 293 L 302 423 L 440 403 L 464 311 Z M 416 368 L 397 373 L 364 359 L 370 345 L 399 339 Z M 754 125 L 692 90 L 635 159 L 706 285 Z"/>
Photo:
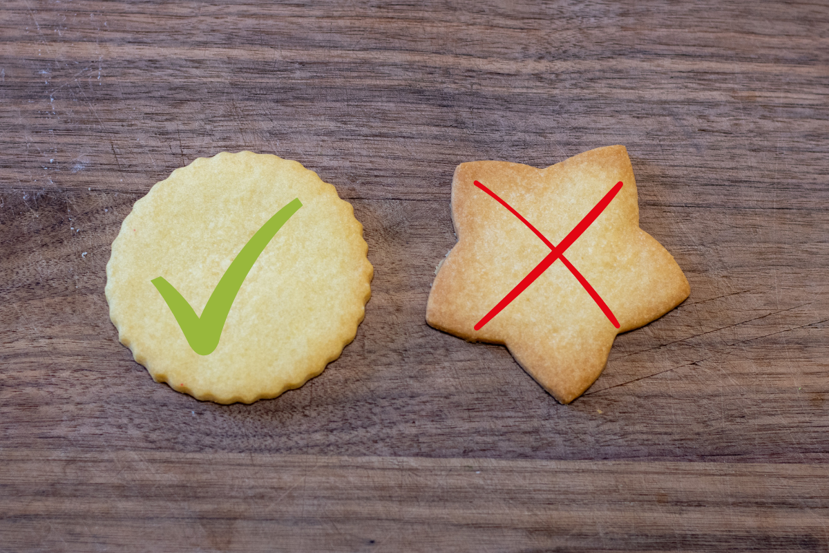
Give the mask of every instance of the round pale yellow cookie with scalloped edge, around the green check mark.
<path id="1" fill-rule="evenodd" d="M 302 206 L 256 258 L 216 349 L 191 349 L 151 282 L 201 315 L 251 237 Z M 302 386 L 356 335 L 373 269 L 354 210 L 297 162 L 250 152 L 198 158 L 135 202 L 112 245 L 106 298 L 119 340 L 155 381 L 199 400 L 252 403 Z"/>

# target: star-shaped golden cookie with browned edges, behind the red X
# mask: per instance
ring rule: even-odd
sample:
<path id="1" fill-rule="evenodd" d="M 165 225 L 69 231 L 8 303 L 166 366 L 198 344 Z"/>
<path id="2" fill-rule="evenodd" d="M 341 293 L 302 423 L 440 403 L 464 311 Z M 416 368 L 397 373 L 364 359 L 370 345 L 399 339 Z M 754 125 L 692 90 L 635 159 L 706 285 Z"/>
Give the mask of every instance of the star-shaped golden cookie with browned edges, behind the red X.
<path id="1" fill-rule="evenodd" d="M 618 194 L 565 251 L 566 260 L 607 304 L 619 327 L 562 260 L 556 260 L 480 330 L 475 325 L 550 248 L 481 182 L 557 246 L 617 184 Z M 628 152 L 608 146 L 536 169 L 482 161 L 458 165 L 452 182 L 458 244 L 439 266 L 426 321 L 470 342 L 505 344 L 516 361 L 562 403 L 599 377 L 618 332 L 675 308 L 691 288 L 671 254 L 639 228 Z"/>

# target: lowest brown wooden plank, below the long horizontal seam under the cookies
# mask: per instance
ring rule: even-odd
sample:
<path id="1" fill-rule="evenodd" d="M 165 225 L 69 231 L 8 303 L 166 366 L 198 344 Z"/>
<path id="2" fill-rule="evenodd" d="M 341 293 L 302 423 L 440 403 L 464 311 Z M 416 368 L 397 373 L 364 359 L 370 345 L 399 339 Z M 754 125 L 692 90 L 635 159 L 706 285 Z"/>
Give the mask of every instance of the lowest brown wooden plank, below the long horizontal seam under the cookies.
<path id="1" fill-rule="evenodd" d="M 10 551 L 61 550 L 66 538 L 83 540 L 77 551 L 825 551 L 829 538 L 829 485 L 813 464 L 136 451 L 5 461 Z M 46 470 L 19 483 L 33 463 Z"/>

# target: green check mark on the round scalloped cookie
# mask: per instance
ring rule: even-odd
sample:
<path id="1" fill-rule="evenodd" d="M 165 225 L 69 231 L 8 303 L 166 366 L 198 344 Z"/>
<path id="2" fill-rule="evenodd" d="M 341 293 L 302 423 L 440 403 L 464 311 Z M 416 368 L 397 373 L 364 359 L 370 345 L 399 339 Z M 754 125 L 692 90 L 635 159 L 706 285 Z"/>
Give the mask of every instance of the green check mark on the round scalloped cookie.
<path id="1" fill-rule="evenodd" d="M 187 343 L 194 352 L 199 355 L 210 355 L 219 345 L 219 338 L 225 327 L 227 315 L 230 313 L 230 306 L 233 305 L 233 300 L 250 273 L 250 269 L 274 235 L 302 206 L 299 198 L 294 198 L 256 231 L 256 234 L 248 240 L 222 275 L 219 284 L 216 284 L 216 289 L 207 300 L 201 317 L 196 316 L 190 303 L 187 303 L 182 294 L 178 293 L 178 290 L 163 277 L 150 281 L 167 302 L 167 307 L 172 311 L 178 326 L 182 327 L 184 337 L 187 338 Z"/>

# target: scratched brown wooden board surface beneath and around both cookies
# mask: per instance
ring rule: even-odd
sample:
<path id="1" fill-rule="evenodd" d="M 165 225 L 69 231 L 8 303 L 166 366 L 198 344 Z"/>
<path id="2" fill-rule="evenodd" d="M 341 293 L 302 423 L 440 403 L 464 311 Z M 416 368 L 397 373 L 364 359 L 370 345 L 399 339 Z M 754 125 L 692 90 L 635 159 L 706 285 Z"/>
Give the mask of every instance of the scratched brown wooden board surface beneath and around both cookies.
<path id="1" fill-rule="evenodd" d="M 0 7 L 0 551 L 829 551 L 829 7 Z M 424 322 L 454 167 L 624 144 L 691 297 L 559 405 Z M 296 159 L 376 269 L 276 400 L 156 384 L 109 246 L 197 157 Z"/>

